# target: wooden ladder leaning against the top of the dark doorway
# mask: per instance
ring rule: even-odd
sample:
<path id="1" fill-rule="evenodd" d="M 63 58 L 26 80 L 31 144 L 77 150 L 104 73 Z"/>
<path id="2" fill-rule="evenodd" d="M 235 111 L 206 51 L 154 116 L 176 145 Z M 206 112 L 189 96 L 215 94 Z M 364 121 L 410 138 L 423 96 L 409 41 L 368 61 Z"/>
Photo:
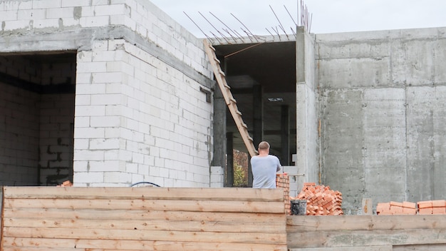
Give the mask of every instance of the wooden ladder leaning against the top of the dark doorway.
<path id="1" fill-rule="evenodd" d="M 211 63 L 212 69 L 214 70 L 214 76 L 215 78 L 217 78 L 218 86 L 220 87 L 220 90 L 222 90 L 224 101 L 226 102 L 229 111 L 231 111 L 232 118 L 234 118 L 234 122 L 239 129 L 244 145 L 247 146 L 249 155 L 251 155 L 251 157 L 257 155 L 257 150 L 254 147 L 252 138 L 251 136 L 249 136 L 248 133 L 247 124 L 243 122 L 242 113 L 239 111 L 239 108 L 237 108 L 237 101 L 235 100 L 234 96 L 232 96 L 231 87 L 229 87 L 229 85 L 227 84 L 226 76 L 222 71 L 222 68 L 220 67 L 220 61 L 215 55 L 215 48 L 212 46 L 212 44 L 209 43 L 209 41 L 207 41 L 207 39 L 204 39 L 203 43 L 204 49 L 207 53 L 207 56 L 209 57 L 209 62 Z"/>

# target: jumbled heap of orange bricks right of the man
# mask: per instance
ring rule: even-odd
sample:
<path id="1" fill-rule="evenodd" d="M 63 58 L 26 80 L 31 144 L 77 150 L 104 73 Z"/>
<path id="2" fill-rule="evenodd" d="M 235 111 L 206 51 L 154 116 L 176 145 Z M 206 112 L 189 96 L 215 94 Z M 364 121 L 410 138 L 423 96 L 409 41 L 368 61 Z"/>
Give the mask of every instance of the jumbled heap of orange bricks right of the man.
<path id="1" fill-rule="evenodd" d="M 343 215 L 342 193 L 329 186 L 304 183 L 301 193 L 291 200 L 306 200 L 306 215 Z"/>

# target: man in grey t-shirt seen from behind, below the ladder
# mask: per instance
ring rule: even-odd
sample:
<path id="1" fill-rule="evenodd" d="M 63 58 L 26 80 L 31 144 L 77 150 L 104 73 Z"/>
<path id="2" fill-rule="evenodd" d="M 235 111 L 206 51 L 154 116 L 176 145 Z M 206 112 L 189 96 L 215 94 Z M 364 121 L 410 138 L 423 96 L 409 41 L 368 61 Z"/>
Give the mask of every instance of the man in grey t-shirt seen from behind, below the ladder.
<path id="1" fill-rule="evenodd" d="M 279 158 L 269 154 L 269 143 L 259 143 L 259 155 L 251 158 L 254 180 L 252 188 L 276 188 L 276 172 L 281 169 Z"/>

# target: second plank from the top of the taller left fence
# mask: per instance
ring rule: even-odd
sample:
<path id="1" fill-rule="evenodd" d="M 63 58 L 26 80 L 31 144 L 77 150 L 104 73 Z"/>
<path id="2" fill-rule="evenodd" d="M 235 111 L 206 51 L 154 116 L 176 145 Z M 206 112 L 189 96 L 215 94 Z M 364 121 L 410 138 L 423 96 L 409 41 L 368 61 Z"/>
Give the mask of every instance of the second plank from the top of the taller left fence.
<path id="1" fill-rule="evenodd" d="M 283 195 L 282 195 L 283 197 Z M 284 213 L 284 202 L 246 202 L 212 200 L 55 200 L 8 199 L 4 208 L 66 208 L 66 209 L 133 209 L 196 212 L 271 212 Z"/>

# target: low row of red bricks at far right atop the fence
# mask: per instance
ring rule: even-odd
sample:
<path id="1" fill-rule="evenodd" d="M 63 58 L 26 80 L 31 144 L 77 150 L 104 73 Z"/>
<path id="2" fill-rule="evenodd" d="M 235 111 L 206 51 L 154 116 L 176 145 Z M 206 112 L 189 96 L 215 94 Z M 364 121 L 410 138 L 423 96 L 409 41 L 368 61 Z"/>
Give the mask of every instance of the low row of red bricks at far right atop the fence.
<path id="1" fill-rule="evenodd" d="M 418 206 L 418 208 L 417 208 Z M 445 200 L 425 200 L 418 203 L 403 202 L 378 203 L 377 215 L 445 215 Z"/>

